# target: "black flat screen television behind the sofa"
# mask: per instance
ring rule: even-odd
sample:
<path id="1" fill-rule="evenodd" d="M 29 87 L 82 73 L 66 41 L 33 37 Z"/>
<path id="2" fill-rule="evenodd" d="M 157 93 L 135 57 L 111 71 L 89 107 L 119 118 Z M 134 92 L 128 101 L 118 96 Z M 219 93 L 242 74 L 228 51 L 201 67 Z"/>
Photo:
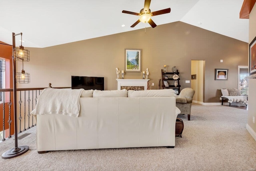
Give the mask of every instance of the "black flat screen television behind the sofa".
<path id="1" fill-rule="evenodd" d="M 104 90 L 104 77 L 71 76 L 71 88 L 84 88 L 84 90 Z"/>

